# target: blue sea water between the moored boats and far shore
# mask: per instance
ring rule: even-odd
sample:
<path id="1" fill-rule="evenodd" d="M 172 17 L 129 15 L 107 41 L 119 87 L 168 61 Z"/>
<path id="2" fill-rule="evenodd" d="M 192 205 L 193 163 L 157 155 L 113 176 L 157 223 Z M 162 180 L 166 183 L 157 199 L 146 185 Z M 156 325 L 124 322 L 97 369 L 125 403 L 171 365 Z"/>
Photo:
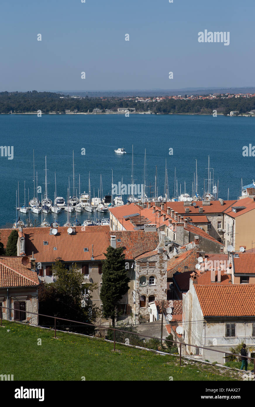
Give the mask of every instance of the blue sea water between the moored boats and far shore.
<path id="1" fill-rule="evenodd" d="M 255 178 L 255 157 L 243 157 L 242 147 L 255 145 L 255 119 L 252 117 L 224 117 L 211 115 L 0 115 L 2 146 L 13 146 L 13 160 L 0 157 L 0 225 L 7 226 L 16 220 L 16 190 L 20 185 L 20 202 L 33 197 L 33 149 L 38 185 L 45 189 L 45 156 L 47 156 L 48 196 L 54 200 L 54 172 L 57 177 L 57 195 L 66 198 L 68 177 L 72 186 L 72 151 L 74 150 L 75 188 L 78 190 L 78 174 L 81 192 L 88 192 L 88 176 L 92 197 L 98 196 L 100 174 L 104 195 L 111 193 L 113 183 L 131 184 L 132 144 L 134 148 L 134 183 L 144 182 L 144 151 L 146 149 L 147 185 L 154 187 L 155 168 L 158 173 L 158 192 L 163 194 L 165 160 L 168 168 L 169 193 L 174 188 L 176 168 L 178 188 L 192 193 L 195 160 L 198 164 L 198 192 L 203 194 L 204 178 L 207 179 L 208 155 L 211 177 L 218 182 L 218 197 L 236 199 L 243 184 Z M 118 155 L 114 149 L 124 147 L 127 154 Z M 85 155 L 81 149 L 85 148 Z M 169 149 L 173 155 L 169 155 Z M 207 184 L 205 184 L 207 185 Z M 153 189 L 151 190 L 154 193 Z M 179 189 L 180 191 L 180 189 Z M 71 188 L 72 193 L 72 188 Z M 149 190 L 146 191 L 149 196 Z M 41 200 L 41 197 L 39 196 Z M 126 197 L 124 199 L 126 202 Z M 27 215 L 22 214 L 22 219 Z M 81 223 L 87 212 L 78 214 Z M 96 212 L 98 217 L 98 212 Z M 107 216 L 106 216 L 107 217 Z M 52 213 L 46 215 L 53 221 Z M 94 218 L 94 215 L 93 215 Z M 41 215 L 31 214 L 31 219 L 41 221 Z M 74 221 L 72 214 L 71 221 Z M 61 225 L 67 221 L 67 213 L 57 215 Z"/>

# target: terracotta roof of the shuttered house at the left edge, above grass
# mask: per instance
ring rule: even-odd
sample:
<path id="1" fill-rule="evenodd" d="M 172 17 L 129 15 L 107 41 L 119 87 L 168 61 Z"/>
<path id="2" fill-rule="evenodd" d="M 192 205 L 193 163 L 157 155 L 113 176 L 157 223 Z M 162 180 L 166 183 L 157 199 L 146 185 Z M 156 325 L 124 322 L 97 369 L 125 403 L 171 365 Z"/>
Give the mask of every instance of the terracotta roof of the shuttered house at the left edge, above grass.
<path id="1" fill-rule="evenodd" d="M 21 263 L 22 257 L 0 257 L 0 287 L 37 286 L 37 273 Z"/>

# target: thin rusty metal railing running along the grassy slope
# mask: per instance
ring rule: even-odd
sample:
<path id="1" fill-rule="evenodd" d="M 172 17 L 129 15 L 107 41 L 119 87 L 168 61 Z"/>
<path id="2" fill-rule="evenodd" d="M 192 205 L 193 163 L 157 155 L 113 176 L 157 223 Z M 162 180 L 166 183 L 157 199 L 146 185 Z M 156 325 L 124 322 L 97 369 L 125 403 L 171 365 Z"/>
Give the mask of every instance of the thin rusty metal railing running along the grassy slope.
<path id="1" fill-rule="evenodd" d="M 94 327 L 94 328 L 102 328 L 102 329 L 107 329 L 107 330 L 113 330 L 113 350 L 114 351 L 115 351 L 115 348 L 116 348 L 116 331 L 117 332 L 123 332 L 123 333 L 126 333 L 126 334 L 131 334 L 131 335 L 142 336 L 143 338 L 146 337 L 146 338 L 150 338 L 150 339 L 158 339 L 158 340 L 162 341 L 161 338 L 157 338 L 155 336 L 144 335 L 142 333 L 140 334 L 140 333 L 137 333 L 137 332 L 129 332 L 129 331 L 122 330 L 122 329 L 111 328 L 109 326 L 89 324 L 87 322 L 73 321 L 72 319 L 65 319 L 65 318 L 60 318 L 60 317 L 52 317 L 52 315 L 44 315 L 44 314 L 39 314 L 39 313 L 36 313 L 36 312 L 31 312 L 31 311 L 15 310 L 14 308 L 6 307 L 6 306 L 0 306 L 0 326 L 2 326 L 2 310 L 3 309 L 8 309 L 8 310 L 10 309 L 12 311 L 20 311 L 20 312 L 23 312 L 25 314 L 33 314 L 33 315 L 37 315 L 37 316 L 40 315 L 42 317 L 48 317 L 48 318 L 54 319 L 54 328 L 52 328 L 52 330 L 54 330 L 54 338 L 56 338 L 56 331 L 57 331 L 56 321 L 57 320 L 59 320 L 59 321 L 67 321 L 67 322 L 74 322 L 76 324 L 91 326 L 91 327 Z M 9 319 L 6 319 L 6 321 L 17 322 L 17 323 L 21 322 L 21 321 L 17 321 L 17 320 L 9 320 Z M 178 348 L 178 344 L 180 345 L 180 354 L 179 354 L 180 366 L 181 366 L 181 356 L 182 356 L 181 355 L 181 347 L 182 346 L 192 346 L 192 347 L 194 347 L 196 349 L 197 348 L 198 349 L 205 349 L 205 350 L 210 350 L 211 352 L 224 353 L 225 355 L 229 354 L 229 355 L 232 355 L 232 356 L 238 356 L 239 358 L 241 357 L 240 354 L 236 354 L 236 353 L 232 353 L 232 352 L 225 352 L 224 350 L 211 349 L 211 348 L 207 348 L 205 346 L 196 346 L 196 345 L 187 344 L 187 343 L 174 341 L 174 340 L 170 340 L 170 339 L 163 339 L 163 341 L 164 342 L 172 342 L 173 344 L 177 344 L 177 348 Z M 124 344 L 124 343 L 122 345 L 127 346 L 127 344 Z M 247 359 L 247 362 L 248 362 L 248 359 L 253 360 L 253 373 L 255 374 L 255 357 L 248 357 L 248 356 L 242 356 L 242 357 Z"/>

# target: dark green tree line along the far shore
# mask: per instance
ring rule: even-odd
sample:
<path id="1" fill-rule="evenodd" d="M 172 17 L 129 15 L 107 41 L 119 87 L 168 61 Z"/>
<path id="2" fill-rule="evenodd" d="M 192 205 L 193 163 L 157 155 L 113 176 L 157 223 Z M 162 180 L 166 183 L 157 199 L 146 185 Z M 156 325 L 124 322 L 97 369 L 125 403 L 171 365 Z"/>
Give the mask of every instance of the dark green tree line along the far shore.
<path id="1" fill-rule="evenodd" d="M 118 107 L 131 108 L 135 107 L 137 112 L 147 112 L 150 109 L 151 113 L 156 114 L 212 114 L 213 110 L 217 113 L 229 114 L 231 110 L 239 111 L 239 114 L 245 114 L 255 109 L 255 97 L 252 98 L 225 98 L 220 96 L 215 99 L 169 99 L 166 98 L 161 102 L 138 102 L 135 100 L 124 100 L 123 98 L 113 97 L 88 97 L 71 98 L 54 92 L 0 92 L 0 113 L 27 113 L 49 112 L 65 113 L 65 110 L 79 113 L 92 112 L 93 109 L 110 109 L 113 112 L 118 110 Z"/>

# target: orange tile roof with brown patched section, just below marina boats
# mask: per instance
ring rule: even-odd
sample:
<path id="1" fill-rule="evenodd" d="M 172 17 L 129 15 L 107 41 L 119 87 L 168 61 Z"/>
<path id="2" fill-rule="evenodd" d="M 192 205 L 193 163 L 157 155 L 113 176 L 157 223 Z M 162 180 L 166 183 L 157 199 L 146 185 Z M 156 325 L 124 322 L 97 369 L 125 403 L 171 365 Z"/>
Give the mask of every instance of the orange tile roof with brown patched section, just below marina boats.
<path id="1" fill-rule="evenodd" d="M 126 230 L 134 230 L 136 227 L 139 227 L 139 225 L 150 223 L 156 224 L 158 228 L 159 226 L 168 225 L 169 219 L 171 219 L 173 223 L 176 222 L 168 214 L 166 214 L 166 211 L 161 210 L 161 216 L 158 217 L 159 210 L 161 210 L 161 207 L 156 206 L 156 212 L 153 213 L 153 207 L 142 208 L 142 206 L 139 206 L 137 204 L 122 205 L 117 206 L 116 208 L 109 208 L 109 212 L 113 214 L 116 219 L 118 219 L 121 225 L 123 225 L 123 228 L 125 228 Z M 136 214 L 137 216 L 134 216 Z M 163 221 L 163 214 L 166 215 L 165 221 Z M 130 217 L 128 215 L 130 215 Z"/>

